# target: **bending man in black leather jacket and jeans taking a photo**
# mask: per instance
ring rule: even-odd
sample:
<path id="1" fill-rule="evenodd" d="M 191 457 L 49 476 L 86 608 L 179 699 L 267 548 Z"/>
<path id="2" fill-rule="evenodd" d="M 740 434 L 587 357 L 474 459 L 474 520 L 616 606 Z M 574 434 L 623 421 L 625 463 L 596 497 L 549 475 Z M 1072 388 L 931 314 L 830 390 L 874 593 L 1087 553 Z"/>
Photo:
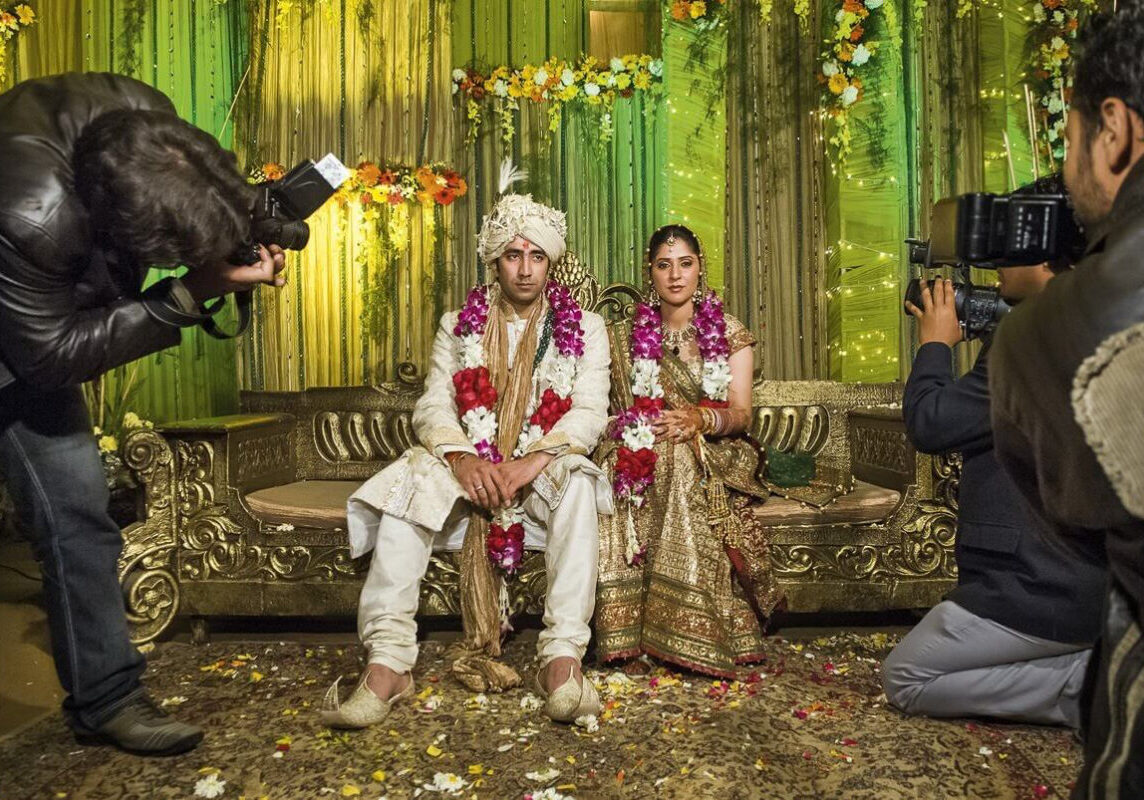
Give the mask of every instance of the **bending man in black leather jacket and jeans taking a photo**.
<path id="1" fill-rule="evenodd" d="M 112 74 L 0 95 L 0 469 L 43 572 L 64 708 L 81 742 L 141 754 L 198 744 L 140 684 L 119 529 L 80 383 L 176 344 L 202 303 L 281 285 L 283 255 L 228 253 L 253 190 L 232 153 L 159 92 Z M 142 290 L 149 268 L 188 267 Z"/>

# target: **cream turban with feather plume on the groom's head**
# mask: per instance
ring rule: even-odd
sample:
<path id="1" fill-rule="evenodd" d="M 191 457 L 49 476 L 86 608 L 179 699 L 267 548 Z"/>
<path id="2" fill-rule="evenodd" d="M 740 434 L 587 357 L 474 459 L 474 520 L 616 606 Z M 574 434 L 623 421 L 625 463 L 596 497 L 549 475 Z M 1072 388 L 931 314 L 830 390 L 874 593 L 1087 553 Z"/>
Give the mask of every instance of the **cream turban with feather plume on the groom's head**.
<path id="1" fill-rule="evenodd" d="M 567 221 L 564 212 L 537 203 L 532 195 L 506 195 L 517 181 L 527 175 L 513 166 L 509 159 L 501 164 L 500 200 L 485 215 L 477 236 L 477 255 L 483 263 L 499 259 L 513 239 L 521 236 L 545 251 L 551 264 L 564 258 Z"/>

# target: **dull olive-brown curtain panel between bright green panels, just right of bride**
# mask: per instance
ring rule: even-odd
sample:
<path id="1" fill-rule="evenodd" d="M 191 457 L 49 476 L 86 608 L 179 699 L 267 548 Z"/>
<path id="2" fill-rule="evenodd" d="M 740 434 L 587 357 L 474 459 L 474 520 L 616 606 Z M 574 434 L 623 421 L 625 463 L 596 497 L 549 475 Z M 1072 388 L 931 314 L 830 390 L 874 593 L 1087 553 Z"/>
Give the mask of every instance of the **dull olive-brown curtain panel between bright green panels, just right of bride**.
<path id="1" fill-rule="evenodd" d="M 811 3 L 818 30 L 825 3 Z M 726 90 L 726 308 L 758 339 L 755 367 L 772 379 L 828 377 L 826 174 L 819 38 L 794 14 L 740 3 L 730 30 Z"/>

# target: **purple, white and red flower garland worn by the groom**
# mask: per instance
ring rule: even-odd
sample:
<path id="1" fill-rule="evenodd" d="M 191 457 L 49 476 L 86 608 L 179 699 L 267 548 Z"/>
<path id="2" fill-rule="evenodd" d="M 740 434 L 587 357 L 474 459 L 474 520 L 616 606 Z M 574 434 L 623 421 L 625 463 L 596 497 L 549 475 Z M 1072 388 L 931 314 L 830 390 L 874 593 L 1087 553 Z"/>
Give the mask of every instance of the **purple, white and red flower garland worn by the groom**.
<path id="1" fill-rule="evenodd" d="M 549 282 L 547 294 L 550 311 L 545 323 L 546 326 L 551 325 L 550 334 L 557 355 L 548 365 L 548 388 L 539 404 L 529 409 L 529 421 L 521 430 L 514 458 L 524 456 L 572 407 L 572 385 L 577 365 L 583 356 L 579 304 L 572 293 L 557 283 Z M 461 370 L 453 373 L 453 387 L 456 389 L 456 413 L 461 418 L 461 427 L 477 456 L 500 464 L 505 457 L 496 449 L 496 412 L 493 410 L 496 406 L 496 389 L 488 378 L 483 343 L 487 323 L 488 287 L 477 286 L 469 292 L 453 327 L 461 353 Z M 549 331 L 545 331 L 542 336 L 548 334 Z M 534 373 L 533 380 L 539 380 L 539 375 Z M 508 573 L 521 565 L 524 557 L 524 510 L 519 505 L 495 514 L 488 529 L 487 552 L 493 564 Z"/>

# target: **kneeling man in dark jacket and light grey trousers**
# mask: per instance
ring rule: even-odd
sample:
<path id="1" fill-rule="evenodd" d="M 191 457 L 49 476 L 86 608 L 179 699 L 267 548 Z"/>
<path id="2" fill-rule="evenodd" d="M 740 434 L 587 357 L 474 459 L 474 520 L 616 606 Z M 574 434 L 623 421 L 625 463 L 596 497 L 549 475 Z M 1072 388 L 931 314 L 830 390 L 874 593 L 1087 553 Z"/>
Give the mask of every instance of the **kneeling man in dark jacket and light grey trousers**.
<path id="1" fill-rule="evenodd" d="M 1052 191 L 1051 184 L 1033 187 Z M 1063 207 L 1063 203 L 1062 203 Z M 935 215 L 937 216 L 937 215 Z M 998 269 L 1000 299 L 1018 303 L 1039 293 L 1067 258 Z M 964 290 L 958 287 L 960 294 Z M 991 290 L 970 288 L 980 307 Z M 1047 541 L 1044 523 L 1026 505 L 993 452 L 986 362 L 992 331 L 974 369 L 954 379 L 952 348 L 962 339 L 952 282 L 921 283 L 921 347 L 906 383 L 903 411 L 917 450 L 961 451 L 958 587 L 906 635 L 883 665 L 890 703 L 907 714 L 991 716 L 1080 726 L 1079 697 L 1099 631 L 1107 580 L 1098 545 L 1071 557 Z M 919 308 L 919 304 L 921 308 Z M 962 301 L 960 306 L 968 307 Z M 977 323 L 993 323 L 992 311 Z M 995 324 L 995 323 L 993 323 Z M 992 325 L 990 325 L 992 327 Z"/>

